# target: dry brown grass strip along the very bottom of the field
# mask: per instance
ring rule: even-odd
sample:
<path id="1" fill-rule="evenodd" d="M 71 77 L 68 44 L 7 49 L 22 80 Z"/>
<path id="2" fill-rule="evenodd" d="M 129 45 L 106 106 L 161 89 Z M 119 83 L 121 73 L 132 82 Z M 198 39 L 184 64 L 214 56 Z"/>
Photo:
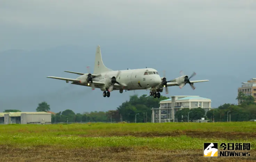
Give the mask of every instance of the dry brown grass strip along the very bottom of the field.
<path id="1" fill-rule="evenodd" d="M 0 161 L 152 161 L 152 162 L 186 162 L 186 161 L 223 161 L 249 162 L 256 160 L 256 151 L 250 150 L 247 157 L 203 157 L 201 149 L 165 151 L 147 147 L 107 147 L 62 149 L 51 146 L 14 148 L 0 145 Z"/>

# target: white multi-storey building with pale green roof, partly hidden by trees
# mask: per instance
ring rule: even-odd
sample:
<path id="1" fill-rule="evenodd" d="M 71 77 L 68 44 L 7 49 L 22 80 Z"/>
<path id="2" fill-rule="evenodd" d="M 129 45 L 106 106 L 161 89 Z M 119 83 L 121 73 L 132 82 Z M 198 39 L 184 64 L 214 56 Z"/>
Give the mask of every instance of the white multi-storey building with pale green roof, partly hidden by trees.
<path id="1" fill-rule="evenodd" d="M 160 101 L 160 107 L 153 107 L 151 109 L 152 122 L 175 122 L 175 113 L 186 107 L 201 107 L 207 112 L 211 110 L 211 100 L 200 96 L 171 96 L 170 99 Z"/>

